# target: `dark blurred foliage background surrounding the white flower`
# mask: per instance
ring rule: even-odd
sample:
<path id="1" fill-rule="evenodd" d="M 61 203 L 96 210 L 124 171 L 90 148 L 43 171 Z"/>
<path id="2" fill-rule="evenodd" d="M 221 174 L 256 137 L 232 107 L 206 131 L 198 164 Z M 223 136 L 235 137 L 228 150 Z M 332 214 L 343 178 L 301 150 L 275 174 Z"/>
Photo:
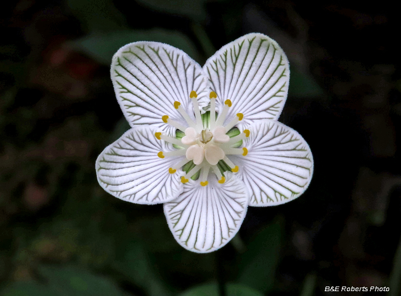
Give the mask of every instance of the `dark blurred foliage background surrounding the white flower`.
<path id="1" fill-rule="evenodd" d="M 326 286 L 401 293 L 394 7 L 21 0 L 1 8 L 1 295 L 218 295 L 217 282 L 230 283 L 227 295 L 329 295 Z M 152 40 L 203 65 L 251 32 L 288 56 L 279 121 L 309 143 L 315 173 L 295 201 L 250 207 L 233 243 L 192 253 L 175 242 L 161 205 L 121 201 L 97 183 L 97 155 L 129 128 L 109 64 L 119 47 Z"/>

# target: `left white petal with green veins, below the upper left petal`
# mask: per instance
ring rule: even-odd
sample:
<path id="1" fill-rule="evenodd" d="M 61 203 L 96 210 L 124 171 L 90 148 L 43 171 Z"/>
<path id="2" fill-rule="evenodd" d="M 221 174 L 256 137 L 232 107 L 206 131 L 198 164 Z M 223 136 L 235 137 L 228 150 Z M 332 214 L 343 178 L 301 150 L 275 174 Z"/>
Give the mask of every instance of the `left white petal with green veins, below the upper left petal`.
<path id="1" fill-rule="evenodd" d="M 149 126 L 137 126 L 106 147 L 96 160 L 99 184 L 111 195 L 140 204 L 163 203 L 183 190 L 177 173 L 168 169 L 181 157 L 160 158 L 157 153 L 175 150 L 157 140 Z"/>

